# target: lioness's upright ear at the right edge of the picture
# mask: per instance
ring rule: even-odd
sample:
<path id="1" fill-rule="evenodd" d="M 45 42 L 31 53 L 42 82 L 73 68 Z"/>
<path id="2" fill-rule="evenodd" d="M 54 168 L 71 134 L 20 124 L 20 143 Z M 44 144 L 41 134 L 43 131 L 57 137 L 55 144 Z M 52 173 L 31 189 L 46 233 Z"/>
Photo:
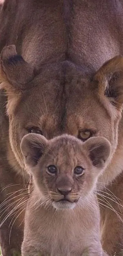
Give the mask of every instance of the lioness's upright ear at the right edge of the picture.
<path id="1" fill-rule="evenodd" d="M 123 104 L 123 57 L 116 56 L 107 61 L 96 73 L 94 80 L 98 82 L 99 95 L 109 98 L 117 109 Z"/>

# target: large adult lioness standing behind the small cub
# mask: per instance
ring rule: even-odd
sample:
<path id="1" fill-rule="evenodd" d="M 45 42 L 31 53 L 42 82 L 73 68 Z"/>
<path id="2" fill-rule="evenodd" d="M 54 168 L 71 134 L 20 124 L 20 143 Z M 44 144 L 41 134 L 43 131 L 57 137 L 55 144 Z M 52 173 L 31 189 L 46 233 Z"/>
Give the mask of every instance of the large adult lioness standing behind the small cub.
<path id="1" fill-rule="evenodd" d="M 110 141 L 110 163 L 97 183 L 97 193 L 102 194 L 101 242 L 111 256 L 122 253 L 122 14 L 121 0 L 3 4 L 0 244 L 4 256 L 20 251 L 23 240 L 29 175 L 20 142 L 30 132 L 47 139 L 67 133 L 82 141 L 92 136 Z"/>

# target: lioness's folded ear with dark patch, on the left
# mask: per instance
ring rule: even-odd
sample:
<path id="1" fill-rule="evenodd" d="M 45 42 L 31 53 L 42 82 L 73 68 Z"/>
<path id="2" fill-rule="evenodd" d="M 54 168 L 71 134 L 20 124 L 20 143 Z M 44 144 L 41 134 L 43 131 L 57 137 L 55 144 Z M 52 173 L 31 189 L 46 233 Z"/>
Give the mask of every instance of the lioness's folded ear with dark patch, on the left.
<path id="1" fill-rule="evenodd" d="M 15 45 L 5 46 L 0 58 L 0 88 L 7 92 L 22 91 L 33 78 L 34 67 L 17 55 Z"/>

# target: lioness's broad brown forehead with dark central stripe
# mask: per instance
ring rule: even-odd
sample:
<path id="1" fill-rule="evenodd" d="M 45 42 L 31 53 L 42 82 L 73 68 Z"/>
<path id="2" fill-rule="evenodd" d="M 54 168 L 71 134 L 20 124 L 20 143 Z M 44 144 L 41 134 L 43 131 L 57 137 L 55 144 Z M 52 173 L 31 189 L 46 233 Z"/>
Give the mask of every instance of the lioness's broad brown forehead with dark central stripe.
<path id="1" fill-rule="evenodd" d="M 16 111 L 23 126 L 40 127 L 48 139 L 62 133 L 77 136 L 81 128 L 96 131 L 99 107 L 108 118 L 96 98 L 96 84 L 91 83 L 86 70 L 83 73 L 74 64 L 46 67 L 33 84 Z"/>

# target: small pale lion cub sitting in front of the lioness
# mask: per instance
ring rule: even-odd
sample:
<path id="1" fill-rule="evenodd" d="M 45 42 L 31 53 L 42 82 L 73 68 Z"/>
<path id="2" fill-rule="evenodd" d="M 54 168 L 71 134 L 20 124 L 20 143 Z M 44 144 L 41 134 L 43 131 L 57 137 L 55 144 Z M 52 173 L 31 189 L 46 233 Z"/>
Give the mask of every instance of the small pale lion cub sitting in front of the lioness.
<path id="1" fill-rule="evenodd" d="M 107 255 L 100 244 L 94 189 L 108 163 L 108 140 L 28 134 L 20 147 L 33 183 L 22 256 Z"/>

